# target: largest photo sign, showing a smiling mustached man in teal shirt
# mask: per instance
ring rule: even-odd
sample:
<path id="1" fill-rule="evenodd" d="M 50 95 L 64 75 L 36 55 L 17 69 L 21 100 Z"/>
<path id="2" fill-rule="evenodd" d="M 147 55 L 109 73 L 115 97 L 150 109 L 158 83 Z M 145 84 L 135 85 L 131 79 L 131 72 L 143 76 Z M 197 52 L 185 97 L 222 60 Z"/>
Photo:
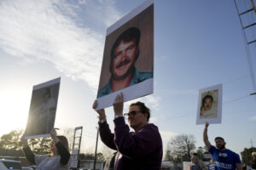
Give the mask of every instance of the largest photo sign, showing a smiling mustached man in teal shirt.
<path id="1" fill-rule="evenodd" d="M 153 93 L 154 3 L 146 1 L 107 30 L 96 110 Z"/>

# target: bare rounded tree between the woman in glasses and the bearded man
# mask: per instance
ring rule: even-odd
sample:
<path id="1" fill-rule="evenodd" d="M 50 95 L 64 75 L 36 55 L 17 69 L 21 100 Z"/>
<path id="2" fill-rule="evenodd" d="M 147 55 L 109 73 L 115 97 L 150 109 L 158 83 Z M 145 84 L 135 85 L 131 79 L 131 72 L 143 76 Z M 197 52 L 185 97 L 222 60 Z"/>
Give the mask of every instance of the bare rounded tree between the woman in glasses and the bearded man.
<path id="1" fill-rule="evenodd" d="M 195 150 L 195 136 L 181 134 L 171 139 L 167 144 L 166 161 L 175 163 L 190 161 L 190 153 Z"/>

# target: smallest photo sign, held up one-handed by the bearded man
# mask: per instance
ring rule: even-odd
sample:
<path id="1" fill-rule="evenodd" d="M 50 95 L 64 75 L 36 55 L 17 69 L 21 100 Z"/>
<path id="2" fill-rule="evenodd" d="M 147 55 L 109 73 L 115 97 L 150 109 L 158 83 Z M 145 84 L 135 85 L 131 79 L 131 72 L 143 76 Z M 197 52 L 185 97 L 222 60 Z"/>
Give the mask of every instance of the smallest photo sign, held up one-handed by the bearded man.
<path id="1" fill-rule="evenodd" d="M 199 91 L 196 124 L 221 123 L 222 84 Z"/>

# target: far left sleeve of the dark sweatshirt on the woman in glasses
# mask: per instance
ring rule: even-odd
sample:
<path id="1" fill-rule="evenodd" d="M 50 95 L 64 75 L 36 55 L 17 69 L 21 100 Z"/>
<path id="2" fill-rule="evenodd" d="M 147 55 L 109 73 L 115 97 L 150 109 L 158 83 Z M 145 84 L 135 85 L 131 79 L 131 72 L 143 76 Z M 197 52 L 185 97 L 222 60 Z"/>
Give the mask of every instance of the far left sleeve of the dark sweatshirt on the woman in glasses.
<path id="1" fill-rule="evenodd" d="M 106 144 L 109 148 L 112 150 L 117 150 L 116 146 L 113 142 L 113 133 L 111 133 L 111 130 L 108 126 L 107 122 L 99 122 L 99 127 L 100 127 L 100 136 L 102 139 L 102 142 Z"/>

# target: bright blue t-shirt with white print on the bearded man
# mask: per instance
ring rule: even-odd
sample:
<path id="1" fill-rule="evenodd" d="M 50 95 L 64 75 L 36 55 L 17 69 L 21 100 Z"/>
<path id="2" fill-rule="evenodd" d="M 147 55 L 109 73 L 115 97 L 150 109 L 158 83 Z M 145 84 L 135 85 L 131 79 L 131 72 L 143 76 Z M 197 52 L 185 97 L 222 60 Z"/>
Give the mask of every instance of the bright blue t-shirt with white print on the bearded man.
<path id="1" fill-rule="evenodd" d="M 231 150 L 218 150 L 211 146 L 215 170 L 236 170 L 236 163 L 241 163 L 240 157 Z"/>

